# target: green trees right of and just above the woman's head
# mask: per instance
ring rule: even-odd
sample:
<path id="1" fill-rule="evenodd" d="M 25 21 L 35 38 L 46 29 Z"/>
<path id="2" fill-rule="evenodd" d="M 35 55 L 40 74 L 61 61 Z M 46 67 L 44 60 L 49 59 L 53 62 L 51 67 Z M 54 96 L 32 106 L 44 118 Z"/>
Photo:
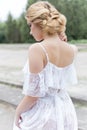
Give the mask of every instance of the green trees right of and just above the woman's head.
<path id="1" fill-rule="evenodd" d="M 38 1 L 38 0 L 36 0 Z M 27 6 L 36 2 L 28 0 Z M 42 0 L 44 1 L 44 0 Z M 46 0 L 45 0 L 46 1 Z M 87 38 L 87 0 L 48 0 L 67 18 L 68 39 Z"/>

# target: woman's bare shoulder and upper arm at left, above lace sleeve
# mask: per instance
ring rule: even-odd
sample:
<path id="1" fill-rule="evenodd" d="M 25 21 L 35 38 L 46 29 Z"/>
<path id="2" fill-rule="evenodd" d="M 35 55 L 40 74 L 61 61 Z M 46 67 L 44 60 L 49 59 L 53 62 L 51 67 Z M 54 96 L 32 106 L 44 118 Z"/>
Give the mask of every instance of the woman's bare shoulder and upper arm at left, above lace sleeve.
<path id="1" fill-rule="evenodd" d="M 37 43 L 29 47 L 29 70 L 32 73 L 38 73 L 43 68 L 43 58 L 40 47 Z"/>

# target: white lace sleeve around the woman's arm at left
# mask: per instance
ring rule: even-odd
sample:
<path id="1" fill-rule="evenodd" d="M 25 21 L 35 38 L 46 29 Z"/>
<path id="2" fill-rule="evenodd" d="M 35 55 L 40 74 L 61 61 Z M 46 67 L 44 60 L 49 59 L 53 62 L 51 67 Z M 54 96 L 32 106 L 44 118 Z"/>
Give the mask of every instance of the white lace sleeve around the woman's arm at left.
<path id="1" fill-rule="evenodd" d="M 23 94 L 33 97 L 43 97 L 45 92 L 41 85 L 39 74 L 26 73 L 24 75 Z"/>

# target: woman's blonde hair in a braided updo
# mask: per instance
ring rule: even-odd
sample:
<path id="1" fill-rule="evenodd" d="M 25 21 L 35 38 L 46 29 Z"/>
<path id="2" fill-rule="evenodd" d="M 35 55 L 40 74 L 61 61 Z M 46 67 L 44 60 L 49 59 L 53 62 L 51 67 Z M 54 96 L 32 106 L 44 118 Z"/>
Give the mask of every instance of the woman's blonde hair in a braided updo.
<path id="1" fill-rule="evenodd" d="M 66 17 L 46 1 L 32 4 L 26 12 L 26 19 L 28 23 L 38 24 L 44 34 L 60 34 L 66 29 Z"/>

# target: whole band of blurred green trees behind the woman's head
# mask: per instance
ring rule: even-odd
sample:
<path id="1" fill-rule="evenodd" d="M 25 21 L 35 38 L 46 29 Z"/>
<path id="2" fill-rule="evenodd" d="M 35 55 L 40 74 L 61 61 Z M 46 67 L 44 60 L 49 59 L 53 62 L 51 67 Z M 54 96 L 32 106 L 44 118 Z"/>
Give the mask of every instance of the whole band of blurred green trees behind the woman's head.
<path id="1" fill-rule="evenodd" d="M 38 0 L 27 0 L 26 9 Z M 42 0 L 43 1 L 43 0 Z M 66 35 L 68 40 L 87 39 L 87 0 L 48 0 L 67 18 Z M 26 12 L 26 10 L 25 10 Z M 0 43 L 33 43 L 25 12 L 14 19 L 11 14 L 0 22 Z M 87 43 L 87 40 L 86 40 Z"/>

